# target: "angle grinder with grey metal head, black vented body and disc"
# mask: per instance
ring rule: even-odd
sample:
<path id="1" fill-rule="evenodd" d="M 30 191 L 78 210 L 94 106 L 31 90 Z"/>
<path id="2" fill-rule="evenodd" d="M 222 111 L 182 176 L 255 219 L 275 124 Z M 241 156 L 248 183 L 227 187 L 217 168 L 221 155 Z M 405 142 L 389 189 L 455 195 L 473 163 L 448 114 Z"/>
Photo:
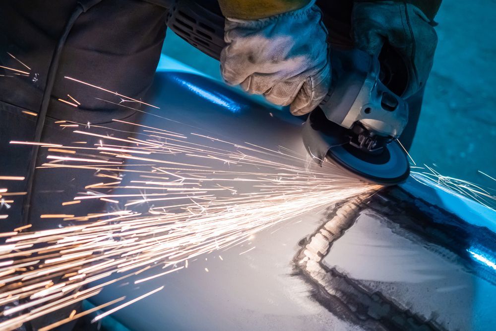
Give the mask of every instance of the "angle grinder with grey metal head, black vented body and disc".
<path id="1" fill-rule="evenodd" d="M 167 26 L 219 60 L 226 44 L 217 0 L 175 1 Z M 332 48 L 330 62 L 331 88 L 303 126 L 310 156 L 320 165 L 332 162 L 368 182 L 403 182 L 410 174 L 406 151 L 397 141 L 408 122 L 408 105 L 399 97 L 408 77 L 404 62 L 387 45 L 378 56 Z"/>

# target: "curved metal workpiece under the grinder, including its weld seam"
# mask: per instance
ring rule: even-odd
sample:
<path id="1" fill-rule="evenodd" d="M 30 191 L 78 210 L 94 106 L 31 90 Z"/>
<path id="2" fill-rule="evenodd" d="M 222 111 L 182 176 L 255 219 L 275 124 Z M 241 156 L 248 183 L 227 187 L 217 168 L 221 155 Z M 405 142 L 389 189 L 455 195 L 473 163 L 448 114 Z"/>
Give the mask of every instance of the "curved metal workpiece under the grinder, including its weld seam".
<path id="1" fill-rule="evenodd" d="M 158 76 L 159 82 L 165 78 Z M 195 77 L 181 78 L 201 86 Z M 202 127 L 222 137 L 306 152 L 300 136 L 301 123 L 294 118 L 232 95 L 241 105 L 241 113 L 214 107 L 188 95 L 183 87 L 174 87 L 171 81 L 177 80 L 167 78 L 166 85 L 162 85 L 167 107 L 161 111 L 168 117 L 188 121 L 191 127 Z M 214 95 L 223 93 L 220 85 L 205 86 Z M 144 125 L 155 119 L 146 121 Z M 410 190 L 437 190 L 416 182 L 409 185 Z M 494 249 L 493 232 L 470 224 L 463 215 L 446 212 L 440 202 L 438 206 L 426 202 L 424 199 L 430 196 L 420 199 L 394 188 L 374 195 L 367 204 L 362 200 L 366 198 L 288 219 L 257 234 L 252 241 L 256 249 L 248 253 L 240 255 L 248 246 L 235 247 L 221 252 L 222 260 L 217 254 L 209 254 L 191 261 L 181 272 L 135 286 L 113 286 L 114 293 L 129 297 L 165 286 L 163 291 L 114 317 L 132 330 L 153 330 L 157 326 L 175 330 L 456 330 L 469 326 L 468 330 L 485 330 L 484 326 L 494 322 L 489 313 L 495 308 L 494 302 L 479 291 L 480 286 L 485 286 L 486 293 L 494 293 L 494 273 L 475 263 L 467 253 L 471 244 L 488 251 Z M 470 209 L 470 205 L 466 204 L 466 208 Z M 379 245 L 382 250 L 376 252 L 374 260 L 365 253 L 373 252 L 376 233 L 383 234 L 379 237 L 384 247 Z M 405 240 L 416 248 L 427 248 L 424 253 L 431 258 L 430 267 L 419 271 L 427 278 L 420 277 L 419 272 L 412 273 L 411 263 L 397 263 L 409 261 L 397 256 L 397 246 Z M 422 250 L 415 254 L 418 252 Z M 423 255 L 418 257 L 425 259 Z M 450 280 L 441 276 L 432 292 L 429 276 L 438 275 L 440 269 L 461 272 L 458 279 L 466 282 L 462 286 L 477 285 L 470 287 L 472 292 L 457 292 L 457 287 L 449 287 Z M 381 272 L 396 278 L 379 279 L 376 276 Z M 140 276 L 146 274 L 145 271 Z M 399 276 L 406 278 L 398 280 Z M 415 289 L 416 296 L 410 295 L 411 289 Z M 455 302 L 445 307 L 458 307 L 465 313 L 461 319 L 468 321 L 466 324 L 454 324 L 449 310 L 443 308 L 446 296 L 442 293 L 452 295 Z M 467 293 L 472 296 L 462 297 Z M 109 299 L 100 295 L 95 304 Z"/>

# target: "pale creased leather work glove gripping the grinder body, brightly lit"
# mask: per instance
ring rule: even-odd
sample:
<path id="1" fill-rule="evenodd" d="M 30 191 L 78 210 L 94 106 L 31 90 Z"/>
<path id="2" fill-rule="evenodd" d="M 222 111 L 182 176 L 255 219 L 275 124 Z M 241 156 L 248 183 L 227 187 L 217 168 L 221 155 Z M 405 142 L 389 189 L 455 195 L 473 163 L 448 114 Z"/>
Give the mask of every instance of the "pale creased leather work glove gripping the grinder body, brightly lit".
<path id="1" fill-rule="evenodd" d="M 226 82 L 293 115 L 315 108 L 327 93 L 331 70 L 327 30 L 311 1 L 294 11 L 256 20 L 226 18 L 221 72 Z"/>

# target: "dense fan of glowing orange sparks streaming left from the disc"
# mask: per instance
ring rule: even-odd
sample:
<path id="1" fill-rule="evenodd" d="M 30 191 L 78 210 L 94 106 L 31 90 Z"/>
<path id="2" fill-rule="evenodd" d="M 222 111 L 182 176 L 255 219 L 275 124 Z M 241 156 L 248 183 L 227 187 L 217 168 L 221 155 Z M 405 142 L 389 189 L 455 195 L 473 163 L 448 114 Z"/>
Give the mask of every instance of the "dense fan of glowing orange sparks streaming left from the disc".
<path id="1" fill-rule="evenodd" d="M 100 199 L 115 203 L 115 209 L 90 210 L 82 215 L 51 210 L 40 217 L 76 221 L 75 225 L 68 222 L 60 228 L 33 232 L 18 228 L 0 234 L 6 238 L 5 245 L 0 246 L 0 262 L 13 261 L 0 267 L 0 283 L 4 284 L 1 304 L 22 300 L 24 305 L 15 306 L 21 307 L 16 311 L 18 315 L 7 311 L 10 315 L 0 322 L 0 329 L 12 329 L 70 306 L 145 270 L 149 274 L 130 283 L 179 271 L 202 255 L 246 245 L 255 234 L 275 225 L 290 226 L 292 222 L 287 221 L 294 217 L 380 189 L 347 178 L 330 164 L 309 168 L 305 156 L 290 150 L 238 144 L 198 133 L 146 129 L 150 132 L 142 133 L 140 139 L 74 131 L 101 140 L 87 147 L 74 146 L 78 141 L 66 145 L 38 143 L 47 148 L 60 147 L 57 149 L 61 153 L 75 152 L 74 157 L 48 155 L 47 159 L 64 164 L 45 163 L 41 168 L 96 171 L 98 179 L 83 185 L 84 191 L 73 201 L 63 202 L 63 207 Z M 164 136 L 152 134 L 156 132 Z M 101 159 L 101 151 L 114 152 L 110 161 Z M 136 151 L 145 152 L 147 157 L 129 155 Z M 176 162 L 178 155 L 183 156 L 181 162 Z M 89 164 L 81 166 L 79 162 Z M 132 169 L 116 169 L 114 165 Z M 119 175 L 127 173 L 141 180 Z M 102 178 L 116 181 L 104 183 Z M 123 192 L 112 192 L 115 188 Z M 137 205 L 147 211 L 126 209 Z M 158 266 L 166 270 L 159 272 Z M 110 308 L 95 321 L 154 291 Z M 72 318 L 81 314 L 85 312 Z M 44 330 L 63 323 L 67 323 L 67 317 Z"/>

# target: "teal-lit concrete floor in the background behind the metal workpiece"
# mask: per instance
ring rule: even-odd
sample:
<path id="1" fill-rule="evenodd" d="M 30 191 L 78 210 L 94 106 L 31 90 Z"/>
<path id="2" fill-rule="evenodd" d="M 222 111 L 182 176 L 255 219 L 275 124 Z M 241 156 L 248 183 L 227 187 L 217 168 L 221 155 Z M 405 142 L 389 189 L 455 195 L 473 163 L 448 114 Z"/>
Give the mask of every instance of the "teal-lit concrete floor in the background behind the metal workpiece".
<path id="1" fill-rule="evenodd" d="M 439 38 L 418 132 L 417 163 L 489 188 L 496 183 L 496 1 L 444 0 Z M 219 64 L 169 31 L 163 53 L 220 79 Z"/>

